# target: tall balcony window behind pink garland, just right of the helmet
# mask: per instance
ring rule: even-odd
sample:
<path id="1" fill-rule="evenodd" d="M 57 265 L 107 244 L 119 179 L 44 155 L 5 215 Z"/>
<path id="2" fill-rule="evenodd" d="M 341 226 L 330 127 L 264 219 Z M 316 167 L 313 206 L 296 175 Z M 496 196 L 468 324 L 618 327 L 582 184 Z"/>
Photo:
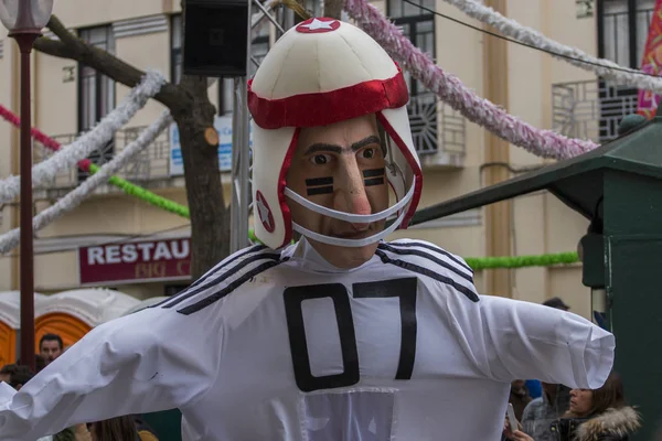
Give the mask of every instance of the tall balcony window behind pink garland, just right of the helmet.
<path id="1" fill-rule="evenodd" d="M 416 0 L 418 4 L 435 10 L 435 0 Z M 388 0 L 388 17 L 423 52 L 436 58 L 435 14 L 403 0 Z M 403 71 L 409 87 L 409 123 L 414 144 L 419 154 L 437 152 L 437 95 L 419 80 Z"/>

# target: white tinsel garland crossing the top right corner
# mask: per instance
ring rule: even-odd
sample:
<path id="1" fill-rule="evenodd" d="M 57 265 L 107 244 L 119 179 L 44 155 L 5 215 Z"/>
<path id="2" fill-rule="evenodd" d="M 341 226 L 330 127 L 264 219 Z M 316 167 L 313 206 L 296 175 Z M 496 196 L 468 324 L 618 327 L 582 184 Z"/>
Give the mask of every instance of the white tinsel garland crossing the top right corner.
<path id="1" fill-rule="evenodd" d="M 562 56 L 559 60 L 580 67 L 588 72 L 594 72 L 599 76 L 609 77 L 629 86 L 637 86 L 640 89 L 654 90 L 662 93 L 662 78 L 654 77 L 630 67 L 623 67 L 610 60 L 597 58 L 588 55 L 577 47 L 566 46 L 558 43 L 538 31 L 524 26 L 515 20 L 503 17 L 490 7 L 485 7 L 476 0 L 444 0 L 458 8 L 467 15 L 482 23 L 494 26 L 504 35 L 513 37 L 520 42 L 531 44 L 537 49 L 553 52 Z M 553 55 L 553 54 L 552 54 Z M 577 58 L 577 60 L 572 60 Z M 624 72 L 627 71 L 627 72 Z"/>

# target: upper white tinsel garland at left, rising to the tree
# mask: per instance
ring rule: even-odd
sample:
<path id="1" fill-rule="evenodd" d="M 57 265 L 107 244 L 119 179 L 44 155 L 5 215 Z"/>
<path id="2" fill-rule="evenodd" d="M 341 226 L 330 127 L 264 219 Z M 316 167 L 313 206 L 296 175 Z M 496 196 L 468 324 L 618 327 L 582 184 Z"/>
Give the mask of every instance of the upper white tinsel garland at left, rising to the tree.
<path id="1" fill-rule="evenodd" d="M 32 186 L 43 187 L 63 170 L 71 169 L 87 158 L 94 150 L 113 139 L 115 132 L 126 125 L 147 100 L 159 93 L 166 78 L 157 71 L 148 71 L 138 86 L 134 87 L 124 101 L 99 121 L 90 131 L 83 133 L 74 142 L 64 146 L 51 158 L 32 168 Z M 13 200 L 20 192 L 20 176 L 9 176 L 0 181 L 0 203 Z"/>

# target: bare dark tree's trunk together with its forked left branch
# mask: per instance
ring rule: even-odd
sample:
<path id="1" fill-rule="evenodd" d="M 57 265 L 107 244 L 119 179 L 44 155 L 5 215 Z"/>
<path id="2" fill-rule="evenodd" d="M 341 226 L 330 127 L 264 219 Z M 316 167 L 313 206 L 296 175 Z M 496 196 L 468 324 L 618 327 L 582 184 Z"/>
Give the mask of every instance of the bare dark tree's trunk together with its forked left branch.
<path id="1" fill-rule="evenodd" d="M 129 87 L 136 86 L 145 75 L 115 55 L 76 37 L 55 15 L 51 17 L 49 29 L 60 41 L 38 39 L 34 44 L 38 51 L 75 60 Z M 216 137 L 210 136 L 215 133 L 211 129 L 216 110 L 209 99 L 206 77 L 184 76 L 179 85 L 168 83 L 154 99 L 170 109 L 180 131 L 191 213 L 191 276 L 197 279 L 229 254 L 229 208 L 223 198 L 218 142 Z"/>

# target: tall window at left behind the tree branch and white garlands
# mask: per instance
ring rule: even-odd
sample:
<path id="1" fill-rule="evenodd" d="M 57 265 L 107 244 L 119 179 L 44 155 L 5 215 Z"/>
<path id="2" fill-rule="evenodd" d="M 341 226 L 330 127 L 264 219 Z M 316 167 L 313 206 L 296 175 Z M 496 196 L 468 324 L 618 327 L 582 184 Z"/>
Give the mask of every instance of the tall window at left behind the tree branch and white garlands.
<path id="1" fill-rule="evenodd" d="M 115 53 L 113 26 L 83 29 L 79 37 L 88 44 Z M 92 67 L 78 64 L 78 131 L 94 127 L 115 108 L 115 82 Z M 95 150 L 89 159 L 94 163 L 104 163 L 113 158 L 115 142 L 111 140 Z M 78 180 L 85 180 L 87 173 L 78 172 Z"/>

